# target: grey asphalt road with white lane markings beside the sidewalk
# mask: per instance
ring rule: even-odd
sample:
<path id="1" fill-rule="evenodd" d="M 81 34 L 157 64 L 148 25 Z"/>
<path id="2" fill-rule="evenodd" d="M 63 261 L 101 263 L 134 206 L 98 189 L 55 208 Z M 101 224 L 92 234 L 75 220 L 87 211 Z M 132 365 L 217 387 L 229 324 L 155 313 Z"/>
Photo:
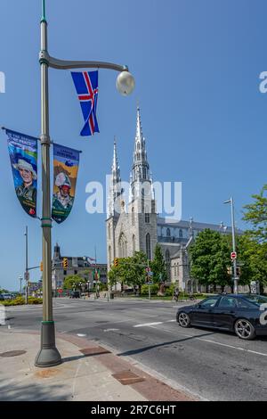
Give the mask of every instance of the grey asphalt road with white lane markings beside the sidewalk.
<path id="1" fill-rule="evenodd" d="M 208 400 L 267 399 L 266 337 L 241 341 L 231 333 L 182 329 L 172 301 L 57 299 L 53 304 L 57 331 L 99 341 L 178 388 Z M 42 308 L 9 308 L 9 316 L 12 329 L 38 330 Z"/>

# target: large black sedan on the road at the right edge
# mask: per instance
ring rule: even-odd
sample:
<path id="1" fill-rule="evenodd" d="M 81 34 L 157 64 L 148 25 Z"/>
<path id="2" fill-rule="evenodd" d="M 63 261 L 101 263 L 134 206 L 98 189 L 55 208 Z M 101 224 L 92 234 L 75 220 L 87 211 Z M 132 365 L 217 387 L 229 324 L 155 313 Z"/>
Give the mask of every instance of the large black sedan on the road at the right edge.
<path id="1" fill-rule="evenodd" d="M 214 295 L 179 308 L 176 320 L 182 327 L 203 326 L 236 333 L 251 340 L 267 335 L 267 297 L 255 294 Z"/>

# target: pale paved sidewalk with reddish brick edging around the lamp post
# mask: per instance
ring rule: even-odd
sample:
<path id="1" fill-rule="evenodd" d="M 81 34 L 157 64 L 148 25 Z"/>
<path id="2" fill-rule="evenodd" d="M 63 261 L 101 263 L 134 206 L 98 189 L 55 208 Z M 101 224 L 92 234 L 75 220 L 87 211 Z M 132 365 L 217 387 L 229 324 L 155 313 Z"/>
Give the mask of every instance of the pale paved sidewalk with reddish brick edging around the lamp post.
<path id="1" fill-rule="evenodd" d="M 0 326 L 0 401 L 194 400 L 95 342 L 70 334 L 57 336 L 61 366 L 36 368 L 39 345 L 38 333 Z"/>

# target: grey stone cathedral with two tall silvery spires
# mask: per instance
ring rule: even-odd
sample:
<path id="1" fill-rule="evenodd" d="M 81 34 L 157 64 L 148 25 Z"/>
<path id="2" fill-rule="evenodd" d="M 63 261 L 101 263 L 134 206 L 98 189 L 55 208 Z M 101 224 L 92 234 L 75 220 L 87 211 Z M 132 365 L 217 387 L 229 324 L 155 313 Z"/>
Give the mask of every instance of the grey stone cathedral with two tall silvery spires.
<path id="1" fill-rule="evenodd" d="M 231 227 L 223 226 L 223 223 L 218 226 L 199 223 L 193 218 L 168 222 L 158 215 L 139 107 L 129 197 L 121 185 L 115 141 L 110 179 L 106 220 L 108 270 L 115 258 L 133 256 L 134 251 L 143 251 L 148 259 L 153 259 L 158 243 L 166 260 L 169 283 L 177 284 L 185 292 L 200 291 L 198 283 L 190 277 L 190 245 L 194 237 L 206 228 L 230 234 Z"/>

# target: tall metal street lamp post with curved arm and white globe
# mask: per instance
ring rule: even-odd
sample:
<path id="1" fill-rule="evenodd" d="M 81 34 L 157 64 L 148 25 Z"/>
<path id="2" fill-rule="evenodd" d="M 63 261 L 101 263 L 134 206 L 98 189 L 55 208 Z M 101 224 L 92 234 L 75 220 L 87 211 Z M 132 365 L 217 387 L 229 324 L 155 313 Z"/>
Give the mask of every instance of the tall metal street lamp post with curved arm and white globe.
<path id="1" fill-rule="evenodd" d="M 109 62 L 73 62 L 53 58 L 48 53 L 47 21 L 45 17 L 45 0 L 42 0 L 43 15 L 41 19 L 41 145 L 42 145 L 42 231 L 43 231 L 43 321 L 41 327 L 41 349 L 36 356 L 36 366 L 48 367 L 61 364 L 61 354 L 55 345 L 52 296 L 52 249 L 51 249 L 51 195 L 50 195 L 50 134 L 49 134 L 49 100 L 48 68 L 68 70 L 78 68 L 98 68 L 120 71 L 117 77 L 117 89 L 121 94 L 130 94 L 134 90 L 134 78 L 126 66 Z"/>

